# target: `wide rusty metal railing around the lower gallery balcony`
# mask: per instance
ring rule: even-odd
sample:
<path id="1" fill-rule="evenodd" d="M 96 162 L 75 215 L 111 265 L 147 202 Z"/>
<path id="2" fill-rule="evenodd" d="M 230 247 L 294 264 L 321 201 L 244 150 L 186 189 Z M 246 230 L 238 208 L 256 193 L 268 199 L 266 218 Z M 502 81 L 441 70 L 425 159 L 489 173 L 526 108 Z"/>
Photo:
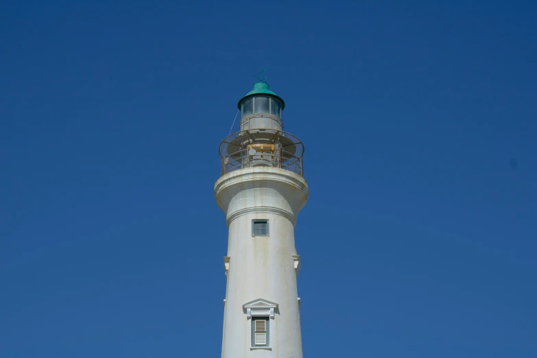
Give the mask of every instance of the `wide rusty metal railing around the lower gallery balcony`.
<path id="1" fill-rule="evenodd" d="M 304 145 L 295 136 L 277 130 L 243 130 L 220 144 L 221 174 L 251 167 L 272 167 L 304 176 Z"/>

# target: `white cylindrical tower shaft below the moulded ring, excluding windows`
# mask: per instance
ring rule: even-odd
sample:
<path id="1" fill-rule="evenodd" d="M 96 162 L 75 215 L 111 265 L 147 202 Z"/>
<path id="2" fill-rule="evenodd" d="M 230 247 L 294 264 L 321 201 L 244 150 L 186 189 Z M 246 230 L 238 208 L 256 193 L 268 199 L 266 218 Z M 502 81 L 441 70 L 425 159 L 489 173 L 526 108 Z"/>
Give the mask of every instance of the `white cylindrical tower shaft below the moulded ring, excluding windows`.
<path id="1" fill-rule="evenodd" d="M 268 220 L 269 236 L 252 237 L 254 219 Z M 255 356 L 302 358 L 293 255 L 294 226 L 286 217 L 261 212 L 241 215 L 230 222 L 222 357 L 252 357 L 252 322 L 243 305 L 263 298 L 276 302 L 278 309 L 269 320 L 271 350 L 261 349 Z"/>

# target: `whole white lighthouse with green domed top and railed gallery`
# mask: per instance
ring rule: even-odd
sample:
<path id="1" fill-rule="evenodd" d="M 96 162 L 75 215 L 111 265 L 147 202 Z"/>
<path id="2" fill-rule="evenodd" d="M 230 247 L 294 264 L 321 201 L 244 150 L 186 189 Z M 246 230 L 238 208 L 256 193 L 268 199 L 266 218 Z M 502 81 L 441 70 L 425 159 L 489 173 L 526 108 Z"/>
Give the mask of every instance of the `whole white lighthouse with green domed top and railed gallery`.
<path id="1" fill-rule="evenodd" d="M 294 226 L 308 197 L 304 145 L 283 132 L 285 103 L 264 80 L 238 106 L 240 130 L 220 144 L 215 183 L 229 227 L 222 357 L 301 358 Z"/>

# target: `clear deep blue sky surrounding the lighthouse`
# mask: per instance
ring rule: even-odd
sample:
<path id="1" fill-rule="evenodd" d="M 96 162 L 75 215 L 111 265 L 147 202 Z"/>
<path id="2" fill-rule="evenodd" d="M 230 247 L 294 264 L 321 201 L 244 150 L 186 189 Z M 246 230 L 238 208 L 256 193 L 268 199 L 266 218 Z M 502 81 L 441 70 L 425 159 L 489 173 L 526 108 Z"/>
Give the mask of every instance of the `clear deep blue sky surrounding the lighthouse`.
<path id="1" fill-rule="evenodd" d="M 305 357 L 536 357 L 537 3 L 434 2 L 3 1 L 0 358 L 219 357 L 260 67 L 306 146 Z"/>

